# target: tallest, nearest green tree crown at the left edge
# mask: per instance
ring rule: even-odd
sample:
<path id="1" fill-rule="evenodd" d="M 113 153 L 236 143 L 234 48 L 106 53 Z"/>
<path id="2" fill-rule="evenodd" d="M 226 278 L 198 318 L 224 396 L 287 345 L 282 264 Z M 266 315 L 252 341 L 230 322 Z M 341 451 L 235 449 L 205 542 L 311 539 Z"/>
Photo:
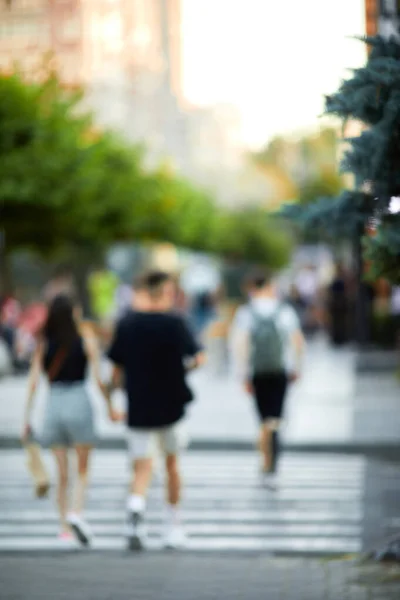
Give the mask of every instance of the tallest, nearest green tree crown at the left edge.
<path id="1" fill-rule="evenodd" d="M 132 189 L 145 183 L 139 151 L 95 134 L 80 100 L 54 76 L 30 85 L 0 78 L 1 225 L 10 251 L 46 254 L 128 235 Z"/>

